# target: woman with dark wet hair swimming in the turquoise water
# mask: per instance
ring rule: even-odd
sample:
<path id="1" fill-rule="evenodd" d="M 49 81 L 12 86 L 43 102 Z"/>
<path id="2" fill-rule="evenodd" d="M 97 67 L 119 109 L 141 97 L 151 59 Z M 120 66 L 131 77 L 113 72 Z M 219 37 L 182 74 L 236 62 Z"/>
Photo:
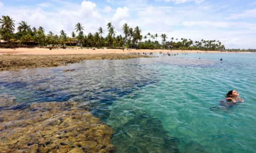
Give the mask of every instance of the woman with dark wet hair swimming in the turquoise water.
<path id="1" fill-rule="evenodd" d="M 244 99 L 240 98 L 240 95 L 236 90 L 229 91 L 226 94 L 226 98 L 220 100 L 221 106 L 236 105 L 237 103 L 244 103 Z"/>

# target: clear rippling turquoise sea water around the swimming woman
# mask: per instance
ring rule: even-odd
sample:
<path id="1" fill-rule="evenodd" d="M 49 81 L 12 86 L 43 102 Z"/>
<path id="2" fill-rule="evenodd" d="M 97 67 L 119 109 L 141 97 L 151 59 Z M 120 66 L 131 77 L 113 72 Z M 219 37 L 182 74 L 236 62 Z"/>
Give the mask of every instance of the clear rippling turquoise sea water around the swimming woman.
<path id="1" fill-rule="evenodd" d="M 238 90 L 245 103 L 209 110 L 229 90 Z M 159 55 L 3 71 L 0 94 L 19 103 L 90 104 L 115 130 L 117 152 L 256 152 L 256 54 Z"/>

